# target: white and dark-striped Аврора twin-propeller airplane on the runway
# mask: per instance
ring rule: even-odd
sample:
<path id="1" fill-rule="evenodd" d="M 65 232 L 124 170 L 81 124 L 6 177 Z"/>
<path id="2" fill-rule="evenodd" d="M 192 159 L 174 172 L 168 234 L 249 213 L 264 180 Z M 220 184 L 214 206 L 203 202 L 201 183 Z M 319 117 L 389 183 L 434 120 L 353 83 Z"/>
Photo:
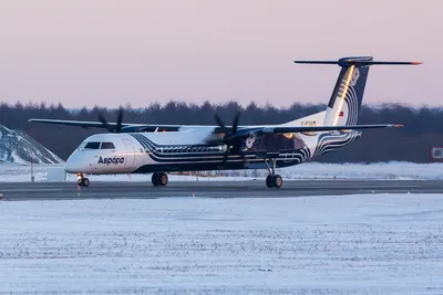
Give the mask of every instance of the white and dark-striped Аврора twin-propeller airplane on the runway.
<path id="1" fill-rule="evenodd" d="M 351 145 L 363 129 L 398 128 L 401 124 L 357 125 L 369 69 L 372 65 L 418 65 L 419 62 L 379 62 L 372 56 L 338 61 L 295 61 L 298 64 L 333 64 L 341 67 L 324 110 L 279 125 L 240 126 L 239 113 L 230 126 L 215 115 L 217 125 L 156 125 L 37 119 L 29 122 L 105 128 L 87 137 L 71 154 L 64 170 L 89 187 L 87 175 L 153 173 L 154 186 L 168 183 L 167 172 L 267 169 L 266 186 L 280 188 L 277 168 Z"/>

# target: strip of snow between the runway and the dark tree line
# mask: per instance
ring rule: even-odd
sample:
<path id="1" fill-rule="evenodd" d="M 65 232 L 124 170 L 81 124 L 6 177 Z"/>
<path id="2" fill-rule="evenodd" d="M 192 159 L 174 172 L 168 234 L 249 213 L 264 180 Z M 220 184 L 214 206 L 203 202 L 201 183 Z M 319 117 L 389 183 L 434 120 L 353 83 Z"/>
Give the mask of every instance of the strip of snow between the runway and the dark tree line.
<path id="1" fill-rule="evenodd" d="M 63 165 L 34 165 L 34 180 L 63 180 Z M 213 172 L 214 173 L 214 172 Z M 198 180 L 245 180 L 265 178 L 266 170 L 237 170 L 225 171 L 228 177 L 199 177 Z M 380 179 L 380 180 L 408 180 L 408 179 L 443 179 L 443 162 L 412 164 L 412 162 L 380 162 L 380 164 L 320 164 L 306 162 L 285 169 L 278 169 L 285 179 Z M 119 175 L 119 176 L 89 176 L 95 180 L 123 180 L 123 181 L 151 181 L 151 175 Z M 169 176 L 171 181 L 196 180 L 195 176 Z M 75 181 L 73 175 L 68 175 L 66 180 Z M 1 181 L 31 181 L 30 165 L 0 165 Z"/>

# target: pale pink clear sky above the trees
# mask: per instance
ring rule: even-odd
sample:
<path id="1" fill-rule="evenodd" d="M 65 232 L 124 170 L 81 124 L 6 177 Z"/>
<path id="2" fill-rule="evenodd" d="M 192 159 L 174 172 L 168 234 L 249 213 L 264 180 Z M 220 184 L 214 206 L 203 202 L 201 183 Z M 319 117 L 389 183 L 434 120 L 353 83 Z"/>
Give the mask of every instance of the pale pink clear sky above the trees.
<path id="1" fill-rule="evenodd" d="M 0 101 L 68 107 L 169 99 L 327 103 L 338 66 L 373 55 L 364 102 L 441 104 L 443 1 L 0 0 Z"/>

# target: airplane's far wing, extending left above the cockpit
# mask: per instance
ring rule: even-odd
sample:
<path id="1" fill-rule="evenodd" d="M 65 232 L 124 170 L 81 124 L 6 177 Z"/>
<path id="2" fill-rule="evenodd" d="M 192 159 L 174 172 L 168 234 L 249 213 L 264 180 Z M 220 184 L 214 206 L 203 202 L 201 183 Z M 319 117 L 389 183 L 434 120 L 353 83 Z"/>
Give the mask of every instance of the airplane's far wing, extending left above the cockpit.
<path id="1" fill-rule="evenodd" d="M 83 128 L 106 128 L 101 122 L 87 122 L 87 120 L 64 120 L 64 119 L 29 119 L 31 123 L 44 123 L 44 124 L 56 124 L 65 126 L 78 126 Z M 116 123 L 107 123 L 112 127 L 116 127 Z M 122 133 L 135 133 L 135 131 L 177 131 L 181 125 L 159 125 L 159 124 L 130 124 L 122 123 Z"/>

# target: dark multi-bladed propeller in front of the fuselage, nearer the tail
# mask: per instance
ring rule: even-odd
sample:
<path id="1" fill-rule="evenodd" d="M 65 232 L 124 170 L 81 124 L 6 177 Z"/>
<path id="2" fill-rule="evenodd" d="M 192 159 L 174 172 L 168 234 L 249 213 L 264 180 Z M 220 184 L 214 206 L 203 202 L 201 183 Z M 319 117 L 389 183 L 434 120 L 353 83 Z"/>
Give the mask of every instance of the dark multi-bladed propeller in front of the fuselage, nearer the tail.
<path id="1" fill-rule="evenodd" d="M 237 129 L 238 129 L 238 122 L 240 119 L 240 112 L 237 112 L 234 116 L 234 122 L 233 122 L 233 126 L 230 127 L 230 129 L 228 127 L 226 127 L 225 123 L 223 122 L 223 119 L 215 114 L 214 115 L 215 120 L 217 122 L 217 125 L 219 126 L 219 131 L 224 133 L 225 136 L 223 138 L 217 138 L 217 139 L 209 139 L 206 143 L 207 144 L 214 144 L 214 143 L 219 143 L 222 141 L 223 144 L 226 145 L 226 152 L 223 157 L 223 165 L 226 164 L 228 156 L 229 156 L 229 150 L 230 148 L 236 148 L 238 151 L 238 154 L 240 155 L 244 165 L 247 165 L 247 159 L 245 158 L 245 155 L 240 151 L 239 149 L 239 141 L 238 141 L 238 137 L 236 136 Z M 216 131 L 217 133 L 217 131 Z"/>

